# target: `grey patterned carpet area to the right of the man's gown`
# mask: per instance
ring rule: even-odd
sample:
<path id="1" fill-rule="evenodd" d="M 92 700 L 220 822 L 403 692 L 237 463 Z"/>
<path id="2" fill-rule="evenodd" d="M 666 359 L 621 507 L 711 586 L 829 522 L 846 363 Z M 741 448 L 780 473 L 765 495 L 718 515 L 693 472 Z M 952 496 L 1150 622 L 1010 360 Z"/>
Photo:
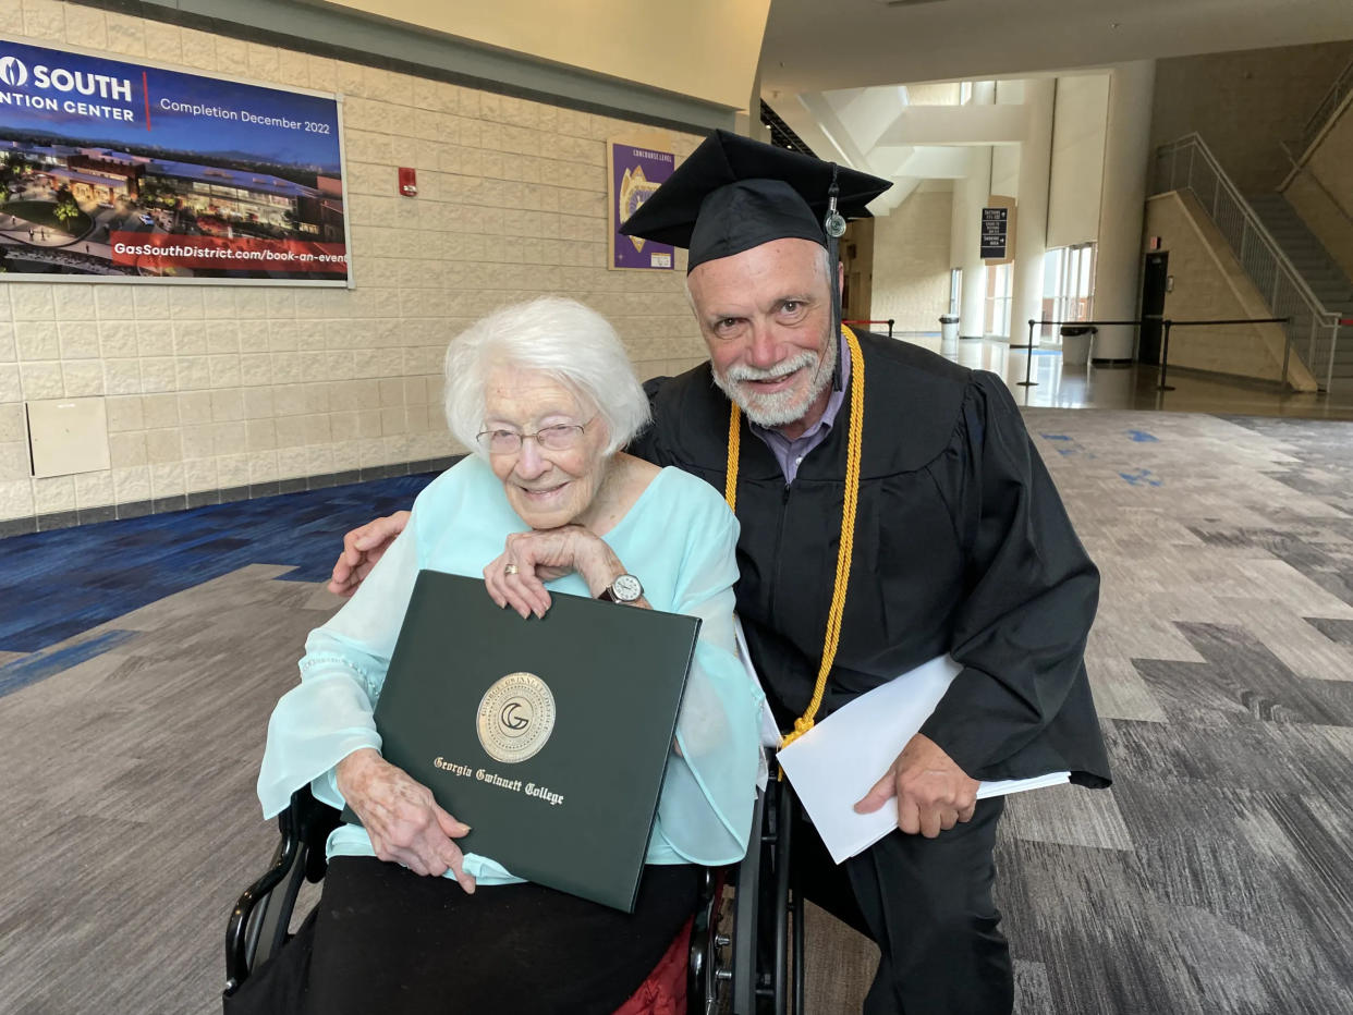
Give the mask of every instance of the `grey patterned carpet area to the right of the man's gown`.
<path id="1" fill-rule="evenodd" d="M 1353 1011 L 1353 425 L 1027 420 L 1104 571 L 1116 782 L 1011 803 L 1023 1010 Z"/>

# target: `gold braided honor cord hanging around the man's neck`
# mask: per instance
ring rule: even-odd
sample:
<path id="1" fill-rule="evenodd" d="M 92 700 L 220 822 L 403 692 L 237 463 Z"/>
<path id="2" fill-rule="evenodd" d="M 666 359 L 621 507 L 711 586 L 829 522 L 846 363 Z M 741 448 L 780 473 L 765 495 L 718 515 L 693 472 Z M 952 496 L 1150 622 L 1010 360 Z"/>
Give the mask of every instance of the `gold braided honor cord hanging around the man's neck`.
<path id="1" fill-rule="evenodd" d="M 827 613 L 827 637 L 823 643 L 823 664 L 817 670 L 817 685 L 808 710 L 794 720 L 794 732 L 779 742 L 781 750 L 813 728 L 813 717 L 827 693 L 827 677 L 836 662 L 836 648 L 842 639 L 842 614 L 846 612 L 846 586 L 850 583 L 851 551 L 855 547 L 855 510 L 859 506 L 859 459 L 865 437 L 865 355 L 859 351 L 855 333 L 842 325 L 842 334 L 850 345 L 850 432 L 846 445 L 846 503 L 842 508 L 842 540 L 836 551 L 836 582 L 832 586 L 832 608 Z M 724 499 L 737 512 L 737 460 L 741 449 L 741 410 L 732 402 L 728 414 L 728 478 Z"/>

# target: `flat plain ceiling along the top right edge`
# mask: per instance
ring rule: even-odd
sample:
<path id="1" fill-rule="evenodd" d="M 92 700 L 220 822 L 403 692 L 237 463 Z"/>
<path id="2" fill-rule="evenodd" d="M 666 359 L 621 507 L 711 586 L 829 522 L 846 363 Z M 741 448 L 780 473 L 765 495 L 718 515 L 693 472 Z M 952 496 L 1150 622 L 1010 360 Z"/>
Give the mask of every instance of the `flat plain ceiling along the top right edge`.
<path id="1" fill-rule="evenodd" d="M 1353 0 L 771 0 L 762 96 L 1353 39 Z"/>

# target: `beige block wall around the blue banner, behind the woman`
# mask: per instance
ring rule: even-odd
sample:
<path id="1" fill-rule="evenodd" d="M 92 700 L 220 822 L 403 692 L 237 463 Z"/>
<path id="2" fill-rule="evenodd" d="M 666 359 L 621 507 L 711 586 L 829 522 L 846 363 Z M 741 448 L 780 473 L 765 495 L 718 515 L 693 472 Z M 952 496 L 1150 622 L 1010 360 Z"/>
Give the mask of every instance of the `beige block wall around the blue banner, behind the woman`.
<path id="1" fill-rule="evenodd" d="M 0 281 L 0 520 L 452 453 L 446 342 L 541 294 L 607 315 L 640 376 L 704 359 L 683 256 L 605 268 L 605 138 L 633 125 L 57 0 L 0 3 L 0 34 L 342 93 L 357 281 Z M 107 397 L 112 468 L 32 479 L 23 402 L 81 395 Z"/>

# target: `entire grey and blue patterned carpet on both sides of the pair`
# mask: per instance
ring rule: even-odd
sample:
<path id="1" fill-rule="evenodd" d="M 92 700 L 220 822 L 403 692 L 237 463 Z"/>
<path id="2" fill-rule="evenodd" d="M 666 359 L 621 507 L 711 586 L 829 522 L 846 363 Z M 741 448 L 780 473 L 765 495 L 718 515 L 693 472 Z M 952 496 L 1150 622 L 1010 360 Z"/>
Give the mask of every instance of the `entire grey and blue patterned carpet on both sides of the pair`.
<path id="1" fill-rule="evenodd" d="M 1353 1011 L 1353 424 L 1026 418 L 1104 572 L 1116 784 L 1011 801 L 1017 1010 Z M 0 541 L 0 1012 L 219 1011 L 313 582 L 421 482 Z M 858 1010 L 870 947 L 809 931 L 809 1011 Z"/>

